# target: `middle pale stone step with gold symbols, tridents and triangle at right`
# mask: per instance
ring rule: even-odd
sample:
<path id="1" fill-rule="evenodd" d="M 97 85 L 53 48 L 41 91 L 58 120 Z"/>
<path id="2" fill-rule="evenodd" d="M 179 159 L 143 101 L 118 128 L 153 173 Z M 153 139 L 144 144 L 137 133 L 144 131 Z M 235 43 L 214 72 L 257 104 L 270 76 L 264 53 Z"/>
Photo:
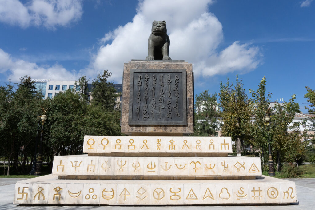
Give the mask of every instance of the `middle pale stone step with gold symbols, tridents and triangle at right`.
<path id="1" fill-rule="evenodd" d="M 54 156 L 53 175 L 258 176 L 259 157 Z"/>

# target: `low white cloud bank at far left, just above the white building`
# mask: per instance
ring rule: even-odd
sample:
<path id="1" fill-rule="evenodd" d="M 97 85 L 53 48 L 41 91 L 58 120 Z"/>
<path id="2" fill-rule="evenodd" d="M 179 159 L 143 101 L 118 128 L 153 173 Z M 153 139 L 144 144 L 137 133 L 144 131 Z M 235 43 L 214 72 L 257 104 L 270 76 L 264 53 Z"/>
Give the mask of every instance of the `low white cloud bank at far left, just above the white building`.
<path id="1" fill-rule="evenodd" d="M 48 77 L 50 79 L 77 80 L 80 76 L 76 71 L 67 71 L 62 65 L 38 66 L 36 63 L 15 59 L 0 48 L 0 73 L 8 75 L 12 82 L 18 82 L 20 77 L 29 75 L 32 78 Z"/>

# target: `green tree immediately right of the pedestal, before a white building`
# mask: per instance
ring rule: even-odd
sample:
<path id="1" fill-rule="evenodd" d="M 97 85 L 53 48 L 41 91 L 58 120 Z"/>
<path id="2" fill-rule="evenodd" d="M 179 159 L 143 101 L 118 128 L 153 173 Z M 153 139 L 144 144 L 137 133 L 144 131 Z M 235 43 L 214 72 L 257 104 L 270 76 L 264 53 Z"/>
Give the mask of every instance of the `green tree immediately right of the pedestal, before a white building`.
<path id="1" fill-rule="evenodd" d="M 218 130 L 216 94 L 203 91 L 195 97 L 195 128 L 194 136 L 216 136 Z"/>

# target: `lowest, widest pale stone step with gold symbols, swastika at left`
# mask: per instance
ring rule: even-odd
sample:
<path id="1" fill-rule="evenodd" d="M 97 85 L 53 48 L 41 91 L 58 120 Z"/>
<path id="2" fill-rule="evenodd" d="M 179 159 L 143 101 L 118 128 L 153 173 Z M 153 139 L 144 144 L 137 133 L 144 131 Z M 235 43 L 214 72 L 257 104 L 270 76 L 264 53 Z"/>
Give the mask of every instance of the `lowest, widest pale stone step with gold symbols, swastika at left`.
<path id="1" fill-rule="evenodd" d="M 238 205 L 296 203 L 292 181 L 66 180 L 46 175 L 15 184 L 14 204 Z"/>

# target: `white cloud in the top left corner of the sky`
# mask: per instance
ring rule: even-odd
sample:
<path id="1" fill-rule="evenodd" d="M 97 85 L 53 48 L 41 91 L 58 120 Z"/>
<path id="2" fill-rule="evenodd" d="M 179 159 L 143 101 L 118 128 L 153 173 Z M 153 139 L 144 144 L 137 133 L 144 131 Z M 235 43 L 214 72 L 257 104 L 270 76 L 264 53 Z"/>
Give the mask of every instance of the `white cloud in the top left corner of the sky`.
<path id="1" fill-rule="evenodd" d="M 0 1 L 0 21 L 22 28 L 68 26 L 81 15 L 81 0 L 30 0 L 25 4 L 19 0 Z"/>

